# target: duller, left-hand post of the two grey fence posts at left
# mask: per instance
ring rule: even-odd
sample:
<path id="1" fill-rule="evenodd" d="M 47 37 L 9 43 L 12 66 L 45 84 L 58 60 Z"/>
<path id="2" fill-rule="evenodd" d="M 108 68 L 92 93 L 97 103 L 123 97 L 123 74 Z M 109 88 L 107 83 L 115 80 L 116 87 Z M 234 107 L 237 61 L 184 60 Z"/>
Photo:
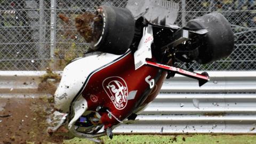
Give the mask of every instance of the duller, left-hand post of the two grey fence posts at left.
<path id="1" fill-rule="evenodd" d="M 39 1 L 39 59 L 41 59 L 41 68 L 44 67 L 45 57 L 45 18 L 44 18 L 44 0 Z"/>

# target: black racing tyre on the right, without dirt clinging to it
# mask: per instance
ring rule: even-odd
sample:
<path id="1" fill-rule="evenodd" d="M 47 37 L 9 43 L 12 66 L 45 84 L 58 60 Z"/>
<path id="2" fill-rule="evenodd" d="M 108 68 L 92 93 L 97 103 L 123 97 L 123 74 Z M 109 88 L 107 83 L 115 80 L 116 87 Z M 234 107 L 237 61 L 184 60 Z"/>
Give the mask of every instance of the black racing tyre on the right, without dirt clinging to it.
<path id="1" fill-rule="evenodd" d="M 233 31 L 227 19 L 220 13 L 213 12 L 190 20 L 186 27 L 208 30 L 203 44 L 198 48 L 198 63 L 205 64 L 228 57 L 234 49 Z"/>

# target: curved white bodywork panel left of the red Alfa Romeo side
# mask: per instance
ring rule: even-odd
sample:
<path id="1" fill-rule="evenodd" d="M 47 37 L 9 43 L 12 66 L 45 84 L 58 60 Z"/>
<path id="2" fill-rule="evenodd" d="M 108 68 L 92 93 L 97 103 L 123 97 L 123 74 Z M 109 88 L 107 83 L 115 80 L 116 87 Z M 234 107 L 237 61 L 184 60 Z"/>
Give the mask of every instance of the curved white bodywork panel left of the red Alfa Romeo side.
<path id="1" fill-rule="evenodd" d="M 96 69 L 122 57 L 110 53 L 100 53 L 77 59 L 65 67 L 63 75 L 54 94 L 55 108 L 68 113 L 70 103 L 82 89 L 86 78 Z"/>

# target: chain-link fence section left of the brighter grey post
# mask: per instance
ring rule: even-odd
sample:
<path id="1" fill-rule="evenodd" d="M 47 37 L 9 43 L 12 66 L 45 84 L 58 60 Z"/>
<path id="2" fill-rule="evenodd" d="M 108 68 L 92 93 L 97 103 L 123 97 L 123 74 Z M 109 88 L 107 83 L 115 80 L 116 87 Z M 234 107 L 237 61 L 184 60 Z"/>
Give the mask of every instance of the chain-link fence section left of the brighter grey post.
<path id="1" fill-rule="evenodd" d="M 38 70 L 49 55 L 50 4 L 0 1 L 0 70 Z"/>

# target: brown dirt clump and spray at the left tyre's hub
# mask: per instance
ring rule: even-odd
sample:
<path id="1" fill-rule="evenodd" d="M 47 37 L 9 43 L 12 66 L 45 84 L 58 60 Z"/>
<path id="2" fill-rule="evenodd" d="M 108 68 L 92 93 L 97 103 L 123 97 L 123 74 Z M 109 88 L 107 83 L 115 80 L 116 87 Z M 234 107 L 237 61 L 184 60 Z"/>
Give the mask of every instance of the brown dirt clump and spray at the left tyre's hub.
<path id="1" fill-rule="evenodd" d="M 80 14 L 76 18 L 69 18 L 63 13 L 60 13 L 58 16 L 62 20 L 61 37 L 67 39 L 68 43 L 71 43 L 71 46 L 68 46 L 66 49 L 60 47 L 54 51 L 54 57 L 57 60 L 51 63 L 51 67 L 62 70 L 71 60 L 82 57 L 84 54 L 77 50 L 78 47 L 74 41 L 83 43 L 83 39 L 85 39 L 85 42 L 91 43 L 91 45 L 85 46 L 83 51 L 94 51 L 89 49 L 89 47 L 93 46 L 100 38 L 103 31 L 103 20 L 101 16 L 91 12 Z M 82 36 L 83 39 L 79 36 Z"/>

